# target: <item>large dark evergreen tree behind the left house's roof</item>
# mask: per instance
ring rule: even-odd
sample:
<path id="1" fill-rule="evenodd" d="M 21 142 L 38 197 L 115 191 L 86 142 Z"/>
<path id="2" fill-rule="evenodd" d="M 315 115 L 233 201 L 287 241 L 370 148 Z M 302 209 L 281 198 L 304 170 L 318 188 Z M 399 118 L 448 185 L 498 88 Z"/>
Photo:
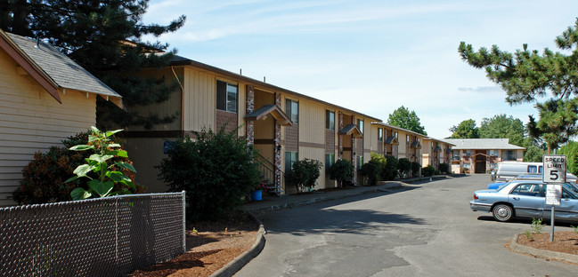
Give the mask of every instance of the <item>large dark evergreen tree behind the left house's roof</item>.
<path id="1" fill-rule="evenodd" d="M 97 102 L 98 123 L 122 126 L 171 122 L 176 114 L 139 115 L 131 107 L 160 103 L 178 84 L 172 75 L 143 77 L 135 73 L 147 67 L 167 67 L 175 50 L 168 44 L 142 41 L 175 32 L 184 24 L 181 16 L 167 26 L 144 24 L 148 0 L 13 0 L 0 4 L 0 28 L 53 44 L 81 67 L 123 96 L 128 113 L 105 100 Z M 4 9 L 5 8 L 5 9 Z"/>

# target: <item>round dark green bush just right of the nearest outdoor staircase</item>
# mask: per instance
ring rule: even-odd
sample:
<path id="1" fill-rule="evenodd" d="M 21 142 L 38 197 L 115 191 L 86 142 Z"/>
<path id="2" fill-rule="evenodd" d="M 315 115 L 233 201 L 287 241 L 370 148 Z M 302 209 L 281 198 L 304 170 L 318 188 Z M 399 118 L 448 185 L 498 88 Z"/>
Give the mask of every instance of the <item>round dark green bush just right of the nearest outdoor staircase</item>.
<path id="1" fill-rule="evenodd" d="M 322 163 L 317 160 L 304 159 L 293 163 L 293 167 L 285 172 L 287 182 L 297 188 L 297 194 L 312 189 L 320 176 Z"/>

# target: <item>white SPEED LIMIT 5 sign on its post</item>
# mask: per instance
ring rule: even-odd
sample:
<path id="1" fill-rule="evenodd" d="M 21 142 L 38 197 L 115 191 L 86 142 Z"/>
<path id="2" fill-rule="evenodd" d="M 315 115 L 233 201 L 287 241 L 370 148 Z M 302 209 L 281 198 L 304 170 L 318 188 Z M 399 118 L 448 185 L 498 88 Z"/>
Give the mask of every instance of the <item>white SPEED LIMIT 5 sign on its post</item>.
<path id="1" fill-rule="evenodd" d="M 547 185 L 546 205 L 552 206 L 550 216 L 550 241 L 554 241 L 554 215 L 555 206 L 559 206 L 562 200 L 562 185 L 566 183 L 566 155 L 544 154 L 542 156 L 543 174 L 542 181 Z"/>

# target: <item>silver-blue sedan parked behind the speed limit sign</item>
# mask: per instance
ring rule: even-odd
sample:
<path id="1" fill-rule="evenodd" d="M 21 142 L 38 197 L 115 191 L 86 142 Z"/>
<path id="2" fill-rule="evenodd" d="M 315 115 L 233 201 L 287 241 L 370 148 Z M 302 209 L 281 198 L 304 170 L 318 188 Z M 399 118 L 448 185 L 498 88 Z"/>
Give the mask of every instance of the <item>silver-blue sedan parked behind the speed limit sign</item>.
<path id="1" fill-rule="evenodd" d="M 474 211 L 491 212 L 498 221 L 511 218 L 550 218 L 551 205 L 546 205 L 546 187 L 541 180 L 514 180 L 498 189 L 478 190 L 469 207 Z M 555 219 L 578 221 L 578 195 L 566 184 L 562 186 L 562 202 L 556 206 Z"/>

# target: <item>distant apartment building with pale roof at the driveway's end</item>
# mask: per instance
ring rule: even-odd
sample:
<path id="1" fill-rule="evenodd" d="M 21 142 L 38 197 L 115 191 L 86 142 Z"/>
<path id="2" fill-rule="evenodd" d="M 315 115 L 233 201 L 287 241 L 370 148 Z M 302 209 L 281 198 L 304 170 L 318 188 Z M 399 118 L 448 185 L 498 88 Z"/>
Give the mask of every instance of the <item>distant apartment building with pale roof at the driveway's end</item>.
<path id="1" fill-rule="evenodd" d="M 452 148 L 452 172 L 486 173 L 498 162 L 524 160 L 525 147 L 509 139 L 444 139 Z"/>

